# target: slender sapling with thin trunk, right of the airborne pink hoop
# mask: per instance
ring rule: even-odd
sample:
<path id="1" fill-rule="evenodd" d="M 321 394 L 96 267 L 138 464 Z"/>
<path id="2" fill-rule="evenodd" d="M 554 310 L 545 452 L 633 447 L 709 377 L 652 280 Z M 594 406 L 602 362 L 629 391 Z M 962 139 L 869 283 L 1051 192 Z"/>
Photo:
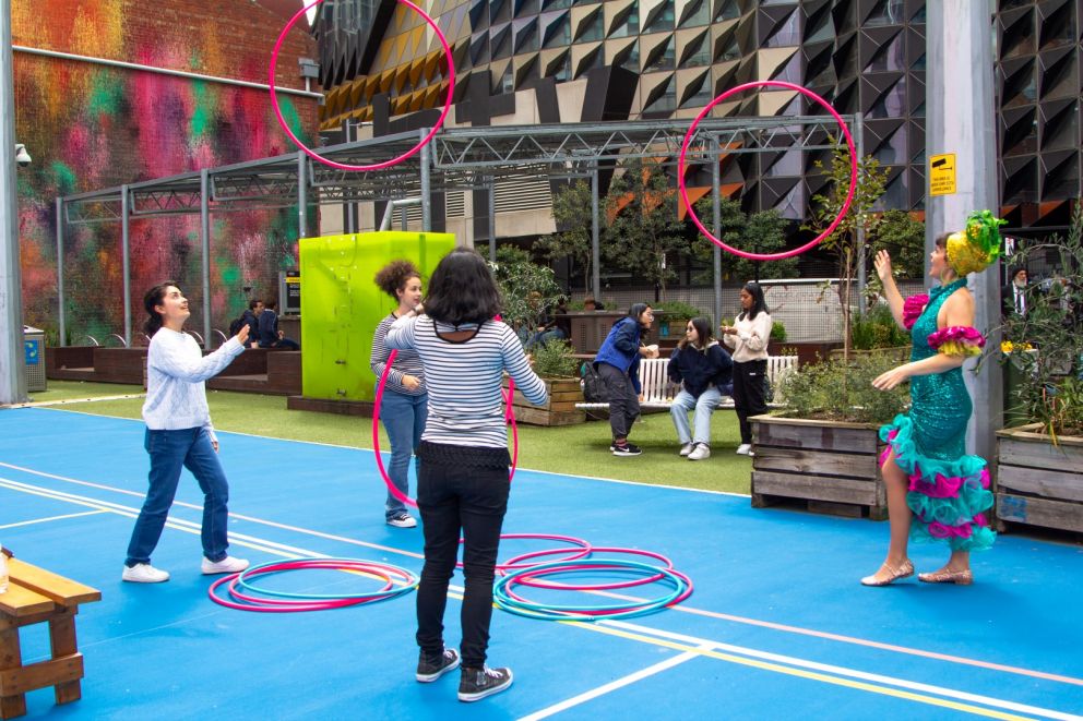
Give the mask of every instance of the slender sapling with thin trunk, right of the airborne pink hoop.
<path id="1" fill-rule="evenodd" d="M 832 139 L 832 142 L 834 140 Z M 816 161 L 818 170 L 824 170 L 820 160 Z M 817 193 L 812 196 L 811 218 L 802 226 L 817 235 L 828 229 L 843 207 L 846 194 L 849 192 L 850 157 L 846 147 L 836 147 L 831 153 L 831 168 L 826 170 L 831 181 L 831 190 L 826 195 Z M 857 188 L 849 211 L 842 221 L 835 226 L 831 235 L 823 239 L 821 247 L 834 254 L 838 263 L 838 304 L 843 314 L 843 358 L 849 359 L 850 302 L 854 297 L 854 276 L 857 274 L 858 255 L 862 249 L 858 247 L 858 229 L 868 233 L 874 226 L 877 217 L 870 213 L 876 202 L 883 195 L 888 184 L 888 169 L 880 167 L 880 161 L 872 156 L 865 156 L 857 165 Z M 868 245 L 864 249 L 868 253 Z"/>

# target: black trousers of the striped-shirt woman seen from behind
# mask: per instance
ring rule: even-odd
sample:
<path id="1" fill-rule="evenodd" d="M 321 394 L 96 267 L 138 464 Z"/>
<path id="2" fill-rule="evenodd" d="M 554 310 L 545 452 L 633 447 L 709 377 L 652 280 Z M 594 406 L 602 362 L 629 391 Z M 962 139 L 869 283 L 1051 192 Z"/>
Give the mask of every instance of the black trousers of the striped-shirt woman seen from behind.
<path id="1" fill-rule="evenodd" d="M 428 459 L 420 464 L 417 507 L 425 528 L 425 565 L 417 587 L 417 645 L 426 656 L 443 652 L 443 612 L 462 531 L 466 593 L 460 648 L 463 665 L 485 663 L 492 579 L 510 488 L 508 468 L 472 468 Z"/>

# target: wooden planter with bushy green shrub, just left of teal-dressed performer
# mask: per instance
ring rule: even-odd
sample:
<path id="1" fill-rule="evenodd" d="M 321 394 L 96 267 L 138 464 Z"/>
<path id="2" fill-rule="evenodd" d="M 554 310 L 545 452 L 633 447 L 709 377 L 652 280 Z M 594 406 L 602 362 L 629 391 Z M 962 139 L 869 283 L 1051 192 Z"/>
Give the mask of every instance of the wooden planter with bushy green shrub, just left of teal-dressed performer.
<path id="1" fill-rule="evenodd" d="M 752 419 L 752 505 L 798 498 L 810 510 L 886 518 L 879 430 L 907 402 L 905 387 L 881 392 L 872 378 L 897 365 L 886 356 L 811 363 L 781 383 L 783 410 Z"/>

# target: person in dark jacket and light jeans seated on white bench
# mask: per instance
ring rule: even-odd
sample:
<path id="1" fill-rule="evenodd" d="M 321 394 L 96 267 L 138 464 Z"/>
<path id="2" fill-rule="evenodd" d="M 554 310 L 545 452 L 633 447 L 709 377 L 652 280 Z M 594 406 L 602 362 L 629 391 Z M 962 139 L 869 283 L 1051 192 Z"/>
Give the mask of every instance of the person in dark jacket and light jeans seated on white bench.
<path id="1" fill-rule="evenodd" d="M 680 455 L 703 460 L 711 455 L 711 413 L 722 396 L 734 393 L 734 361 L 711 335 L 711 322 L 693 317 L 674 349 L 666 368 L 669 380 L 681 385 L 669 412 L 677 426 Z M 688 426 L 688 411 L 695 409 L 695 433 Z"/>

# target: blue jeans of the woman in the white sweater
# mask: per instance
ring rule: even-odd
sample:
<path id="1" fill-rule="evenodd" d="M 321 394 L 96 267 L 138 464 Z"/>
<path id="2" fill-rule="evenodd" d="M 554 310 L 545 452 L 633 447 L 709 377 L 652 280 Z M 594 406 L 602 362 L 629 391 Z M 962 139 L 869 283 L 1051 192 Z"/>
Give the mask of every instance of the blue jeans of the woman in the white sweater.
<path id="1" fill-rule="evenodd" d="M 151 472 L 147 477 L 150 489 L 139 518 L 135 519 L 135 528 L 132 529 L 124 565 L 151 563 L 151 553 L 158 544 L 169 515 L 169 506 L 177 495 L 181 468 L 192 472 L 203 491 L 203 531 L 200 534 L 203 540 L 203 555 L 214 562 L 225 558 L 229 546 L 226 538 L 229 485 L 222 464 L 218 462 L 218 454 L 211 445 L 211 434 L 204 428 L 182 431 L 146 429 L 143 447 L 151 456 Z"/>

